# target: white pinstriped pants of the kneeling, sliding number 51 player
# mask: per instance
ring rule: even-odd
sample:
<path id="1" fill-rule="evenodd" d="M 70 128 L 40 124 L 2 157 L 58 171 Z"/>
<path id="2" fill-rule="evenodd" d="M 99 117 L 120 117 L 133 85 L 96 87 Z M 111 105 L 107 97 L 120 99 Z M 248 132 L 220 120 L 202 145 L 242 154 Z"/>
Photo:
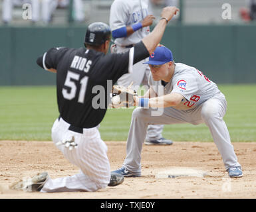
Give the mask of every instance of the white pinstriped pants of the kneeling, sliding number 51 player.
<path id="1" fill-rule="evenodd" d="M 98 127 L 83 129 L 83 133 L 68 130 L 70 125 L 62 118 L 57 119 L 52 128 L 52 138 L 55 145 L 64 138 L 74 136 L 78 148 L 69 150 L 64 145 L 57 148 L 64 157 L 80 168 L 78 174 L 64 178 L 47 180 L 41 192 L 61 191 L 96 191 L 106 187 L 110 182 L 110 163 L 107 156 L 107 146 L 100 138 Z"/>

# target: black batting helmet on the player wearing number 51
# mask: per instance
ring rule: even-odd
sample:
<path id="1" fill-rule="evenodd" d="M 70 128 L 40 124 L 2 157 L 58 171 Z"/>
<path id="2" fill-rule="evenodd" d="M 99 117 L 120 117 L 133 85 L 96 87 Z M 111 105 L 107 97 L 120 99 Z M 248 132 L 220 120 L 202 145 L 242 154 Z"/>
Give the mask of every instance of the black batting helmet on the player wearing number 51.
<path id="1" fill-rule="evenodd" d="M 88 26 L 84 38 L 84 44 L 100 46 L 106 40 L 111 39 L 110 26 L 102 22 L 95 22 Z"/>

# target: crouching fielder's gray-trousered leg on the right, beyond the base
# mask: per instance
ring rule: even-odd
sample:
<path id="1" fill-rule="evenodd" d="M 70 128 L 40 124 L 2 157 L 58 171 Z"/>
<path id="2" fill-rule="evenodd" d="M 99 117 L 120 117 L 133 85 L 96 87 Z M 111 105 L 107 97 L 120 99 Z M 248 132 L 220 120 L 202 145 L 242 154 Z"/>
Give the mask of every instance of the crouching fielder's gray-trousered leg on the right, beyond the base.
<path id="1" fill-rule="evenodd" d="M 224 95 L 221 93 L 216 98 L 211 98 L 201 107 L 201 117 L 209 131 L 213 136 L 213 140 L 222 156 L 225 168 L 230 166 L 240 166 L 237 162 L 237 156 L 231 140 L 229 137 L 229 131 L 223 120 L 226 112 L 227 102 Z"/>

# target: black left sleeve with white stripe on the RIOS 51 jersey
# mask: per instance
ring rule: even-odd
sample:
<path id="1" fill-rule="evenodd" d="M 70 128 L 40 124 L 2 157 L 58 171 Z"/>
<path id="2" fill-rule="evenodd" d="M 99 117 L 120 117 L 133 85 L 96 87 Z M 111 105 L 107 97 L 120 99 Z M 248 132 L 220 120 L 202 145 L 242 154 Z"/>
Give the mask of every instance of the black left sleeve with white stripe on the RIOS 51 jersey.
<path id="1" fill-rule="evenodd" d="M 57 69 L 59 58 L 63 56 L 66 49 L 64 47 L 50 48 L 43 56 L 37 58 L 37 64 L 44 69 Z"/>

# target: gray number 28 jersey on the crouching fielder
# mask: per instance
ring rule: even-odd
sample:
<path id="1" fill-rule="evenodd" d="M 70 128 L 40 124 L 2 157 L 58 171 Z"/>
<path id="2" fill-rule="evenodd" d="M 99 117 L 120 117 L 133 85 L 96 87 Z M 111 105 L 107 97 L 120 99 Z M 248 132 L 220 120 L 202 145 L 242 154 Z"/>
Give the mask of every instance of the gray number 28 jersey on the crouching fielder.
<path id="1" fill-rule="evenodd" d="M 149 84 L 156 85 L 156 87 L 162 85 L 161 81 L 154 81 L 151 74 Z M 197 107 L 220 92 L 217 85 L 202 72 L 181 63 L 176 64 L 174 76 L 164 87 L 164 92 L 161 93 L 159 88 L 155 91 L 158 95 L 166 95 L 171 92 L 182 94 L 185 98 L 174 108 L 184 111 Z"/>

